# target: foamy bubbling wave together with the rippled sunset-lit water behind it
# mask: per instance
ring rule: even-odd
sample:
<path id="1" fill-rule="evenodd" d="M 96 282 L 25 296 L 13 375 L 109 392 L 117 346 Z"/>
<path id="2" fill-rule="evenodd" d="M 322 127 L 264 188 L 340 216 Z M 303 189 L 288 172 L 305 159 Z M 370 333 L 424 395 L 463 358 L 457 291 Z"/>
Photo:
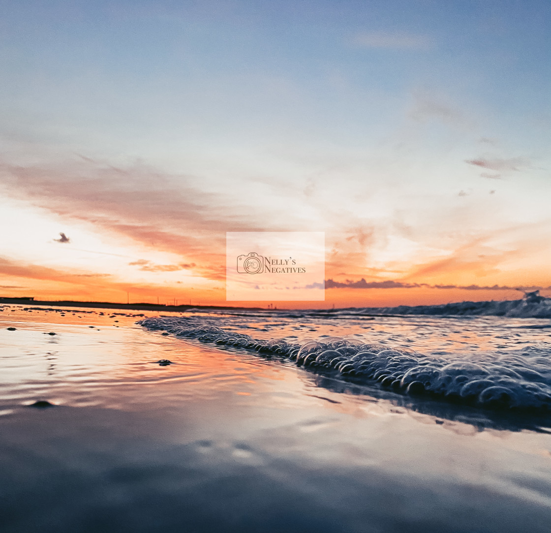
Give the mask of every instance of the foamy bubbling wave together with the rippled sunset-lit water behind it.
<path id="1" fill-rule="evenodd" d="M 300 317 L 309 320 L 308 325 L 296 324 L 297 317 L 286 315 L 280 314 L 272 324 L 269 317 L 255 325 L 244 321 L 243 315 L 229 314 L 149 317 L 138 323 L 153 331 L 164 330 L 165 335 L 293 360 L 301 367 L 361 385 L 379 382 L 384 389 L 410 396 L 436 396 L 461 405 L 525 414 L 551 413 L 547 320 L 521 324 L 518 319 L 503 318 L 379 316 L 377 328 L 365 326 L 365 317 L 357 315 L 335 318 L 310 312 Z M 289 333 L 293 330 L 298 335 Z"/>

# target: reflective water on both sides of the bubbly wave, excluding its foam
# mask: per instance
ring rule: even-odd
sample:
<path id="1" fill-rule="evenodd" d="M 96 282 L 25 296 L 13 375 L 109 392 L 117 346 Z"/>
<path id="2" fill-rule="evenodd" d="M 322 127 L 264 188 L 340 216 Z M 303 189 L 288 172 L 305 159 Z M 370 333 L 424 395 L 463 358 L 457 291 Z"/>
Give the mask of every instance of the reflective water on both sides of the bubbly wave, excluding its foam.
<path id="1" fill-rule="evenodd" d="M 31 310 L 0 313 L 2 531 L 549 530 L 545 413 L 412 397 L 139 316 Z M 177 316 L 452 358 L 550 339 L 536 319 Z"/>

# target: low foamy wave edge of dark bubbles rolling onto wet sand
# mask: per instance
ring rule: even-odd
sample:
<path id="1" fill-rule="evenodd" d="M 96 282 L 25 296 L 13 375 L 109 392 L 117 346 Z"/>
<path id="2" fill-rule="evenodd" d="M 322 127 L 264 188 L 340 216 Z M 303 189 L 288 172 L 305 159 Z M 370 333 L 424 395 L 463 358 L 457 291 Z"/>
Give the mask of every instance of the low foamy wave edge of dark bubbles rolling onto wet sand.
<path id="1" fill-rule="evenodd" d="M 383 389 L 410 396 L 436 396 L 490 409 L 551 411 L 548 347 L 460 357 L 419 353 L 402 346 L 389 348 L 347 337 L 320 337 L 303 343 L 255 339 L 217 326 L 192 325 L 186 317 L 151 317 L 138 324 L 176 337 L 290 359 L 315 372 L 356 383 L 377 383 Z"/>

